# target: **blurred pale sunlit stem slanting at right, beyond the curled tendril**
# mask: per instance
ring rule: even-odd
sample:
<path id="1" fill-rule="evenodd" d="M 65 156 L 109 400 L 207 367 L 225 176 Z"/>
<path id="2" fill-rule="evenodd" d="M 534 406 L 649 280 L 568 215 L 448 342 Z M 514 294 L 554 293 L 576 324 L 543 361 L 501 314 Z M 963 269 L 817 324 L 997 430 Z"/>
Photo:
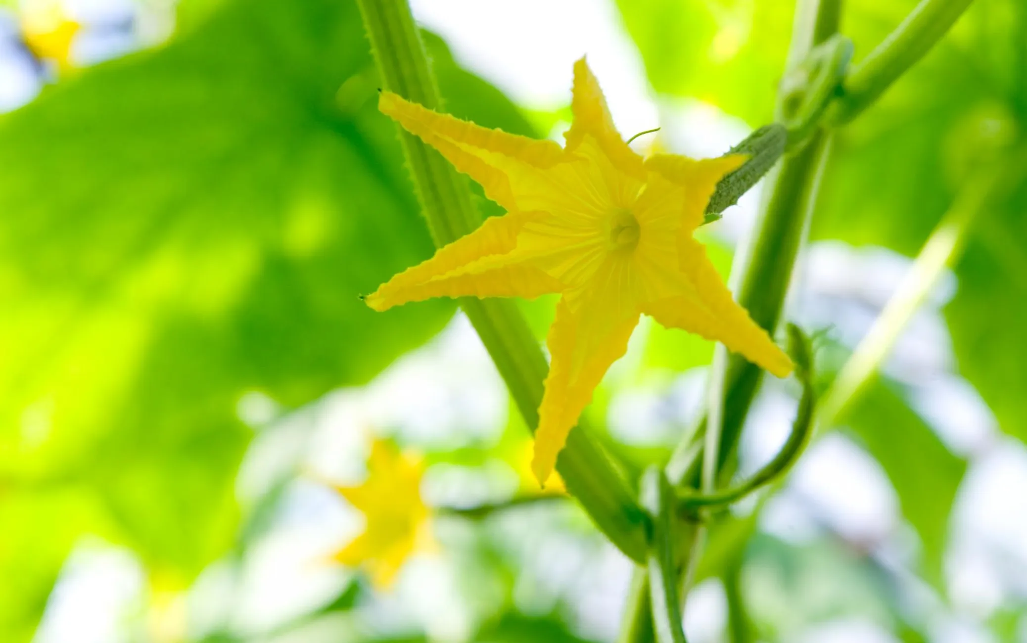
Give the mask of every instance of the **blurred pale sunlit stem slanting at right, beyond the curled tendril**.
<path id="1" fill-rule="evenodd" d="M 1013 163 L 1013 166 L 1020 165 Z M 1005 173 L 989 164 L 960 190 L 955 202 L 935 227 L 913 266 L 899 283 L 898 290 L 824 395 L 824 404 L 816 418 L 823 428 L 830 428 L 842 419 L 873 381 L 903 329 L 923 304 L 946 267 L 958 261 L 967 232 L 978 215 L 986 210 L 995 188 L 1002 183 L 1003 175 Z"/>

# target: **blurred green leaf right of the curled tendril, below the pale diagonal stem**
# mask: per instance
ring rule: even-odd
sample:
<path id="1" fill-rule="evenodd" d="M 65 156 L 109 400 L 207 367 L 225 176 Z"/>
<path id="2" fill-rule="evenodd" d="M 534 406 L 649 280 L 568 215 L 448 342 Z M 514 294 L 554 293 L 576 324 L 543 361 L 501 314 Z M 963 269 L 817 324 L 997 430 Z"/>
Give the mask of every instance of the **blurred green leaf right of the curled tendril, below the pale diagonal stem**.
<path id="1" fill-rule="evenodd" d="M 923 543 L 924 572 L 941 584 L 949 516 L 966 461 L 946 448 L 898 392 L 873 382 L 841 418 L 884 468 L 903 516 Z"/>

